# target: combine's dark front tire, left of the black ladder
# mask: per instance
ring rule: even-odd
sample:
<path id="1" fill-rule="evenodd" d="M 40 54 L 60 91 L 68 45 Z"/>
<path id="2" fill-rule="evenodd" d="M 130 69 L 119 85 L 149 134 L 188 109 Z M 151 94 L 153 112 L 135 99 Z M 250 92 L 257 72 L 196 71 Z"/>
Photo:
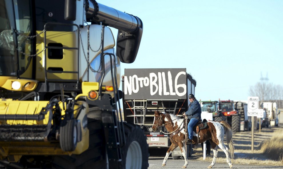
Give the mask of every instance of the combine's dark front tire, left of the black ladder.
<path id="1" fill-rule="evenodd" d="M 52 168 L 59 169 L 106 169 L 106 150 L 101 120 L 87 119 L 89 129 L 89 148 L 79 155 L 54 156 Z"/>

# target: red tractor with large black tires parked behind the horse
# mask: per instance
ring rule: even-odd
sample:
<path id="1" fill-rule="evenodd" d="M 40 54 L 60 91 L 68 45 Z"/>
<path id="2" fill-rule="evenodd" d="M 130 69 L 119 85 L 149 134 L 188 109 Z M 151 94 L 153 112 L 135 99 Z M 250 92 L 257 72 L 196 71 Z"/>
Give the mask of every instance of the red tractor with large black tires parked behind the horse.
<path id="1" fill-rule="evenodd" d="M 218 101 L 218 113 L 214 114 L 214 121 L 226 121 L 232 127 L 233 132 L 240 132 L 240 116 L 234 108 L 234 101 Z"/>

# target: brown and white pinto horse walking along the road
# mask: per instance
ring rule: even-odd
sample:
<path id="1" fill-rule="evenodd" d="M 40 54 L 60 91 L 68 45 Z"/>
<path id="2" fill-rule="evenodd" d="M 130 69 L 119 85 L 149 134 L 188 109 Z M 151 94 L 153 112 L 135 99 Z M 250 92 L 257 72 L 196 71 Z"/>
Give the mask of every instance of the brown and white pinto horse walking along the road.
<path id="1" fill-rule="evenodd" d="M 169 157 L 169 155 L 172 153 L 172 151 L 176 147 L 180 147 L 180 150 L 185 158 L 185 164 L 182 166 L 182 168 L 187 168 L 188 165 L 188 159 L 187 159 L 187 151 L 185 148 L 186 145 L 186 137 L 187 137 L 187 130 L 186 130 L 186 122 L 184 118 L 178 118 L 174 114 L 168 114 L 164 112 L 155 111 L 154 112 L 154 123 L 152 126 L 152 130 L 156 131 L 160 126 L 164 125 L 168 134 L 171 133 L 177 133 L 175 135 L 170 136 L 171 140 L 171 146 L 168 149 L 166 156 L 163 160 L 162 166 L 166 165 L 166 161 Z M 213 160 L 212 163 L 207 168 L 212 168 L 215 164 L 216 157 L 218 154 L 217 146 L 221 148 L 221 150 L 224 151 L 226 154 L 226 160 L 230 168 L 232 168 L 232 163 L 230 158 L 234 158 L 234 145 L 232 140 L 232 130 L 230 125 L 225 122 L 214 122 L 214 121 L 208 121 L 207 122 L 207 128 L 200 130 L 199 133 L 199 142 L 198 142 L 198 135 L 196 134 L 196 128 L 194 128 L 193 132 L 193 144 L 202 143 L 206 140 L 210 141 L 211 147 L 213 149 Z M 178 132 L 179 130 L 179 132 Z M 226 132 L 226 141 L 229 146 L 229 149 L 224 144 L 224 131 Z"/>

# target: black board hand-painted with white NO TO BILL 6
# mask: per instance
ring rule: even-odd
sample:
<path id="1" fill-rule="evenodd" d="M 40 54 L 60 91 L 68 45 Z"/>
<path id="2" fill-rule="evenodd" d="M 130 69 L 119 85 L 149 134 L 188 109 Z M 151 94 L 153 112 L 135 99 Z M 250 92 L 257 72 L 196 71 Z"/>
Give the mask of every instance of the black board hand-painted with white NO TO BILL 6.
<path id="1" fill-rule="evenodd" d="M 186 69 L 125 69 L 125 99 L 186 99 Z"/>

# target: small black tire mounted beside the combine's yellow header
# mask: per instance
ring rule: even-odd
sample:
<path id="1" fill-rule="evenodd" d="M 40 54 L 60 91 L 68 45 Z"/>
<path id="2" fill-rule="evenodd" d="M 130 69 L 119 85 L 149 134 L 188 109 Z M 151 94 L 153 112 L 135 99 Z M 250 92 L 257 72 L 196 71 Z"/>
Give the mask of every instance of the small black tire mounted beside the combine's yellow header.
<path id="1" fill-rule="evenodd" d="M 77 121 L 67 120 L 64 126 L 60 127 L 60 147 L 63 151 L 74 151 L 77 146 Z"/>

